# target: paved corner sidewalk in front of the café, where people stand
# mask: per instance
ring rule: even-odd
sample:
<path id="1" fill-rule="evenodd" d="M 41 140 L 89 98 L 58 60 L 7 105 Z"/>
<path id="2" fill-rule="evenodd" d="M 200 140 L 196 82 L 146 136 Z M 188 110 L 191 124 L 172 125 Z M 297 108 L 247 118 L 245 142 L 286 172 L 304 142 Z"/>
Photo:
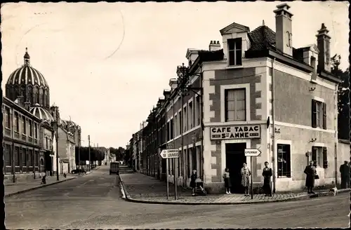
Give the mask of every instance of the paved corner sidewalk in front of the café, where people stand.
<path id="1" fill-rule="evenodd" d="M 191 196 L 190 189 L 177 188 L 178 198 L 174 199 L 174 184 L 169 184 L 169 199 L 166 198 L 166 182 L 161 182 L 154 177 L 149 177 L 141 173 L 121 174 L 121 186 L 126 200 L 139 203 L 159 203 L 159 204 L 182 204 L 182 205 L 220 205 L 220 204 L 249 204 L 267 203 L 280 201 L 293 201 L 309 199 L 317 196 L 328 196 L 329 191 L 318 191 L 314 195 L 306 192 L 273 194 L 272 197 L 264 194 L 251 196 L 243 194 L 208 194 L 207 196 Z M 340 192 L 350 191 L 350 189 L 340 189 Z"/>

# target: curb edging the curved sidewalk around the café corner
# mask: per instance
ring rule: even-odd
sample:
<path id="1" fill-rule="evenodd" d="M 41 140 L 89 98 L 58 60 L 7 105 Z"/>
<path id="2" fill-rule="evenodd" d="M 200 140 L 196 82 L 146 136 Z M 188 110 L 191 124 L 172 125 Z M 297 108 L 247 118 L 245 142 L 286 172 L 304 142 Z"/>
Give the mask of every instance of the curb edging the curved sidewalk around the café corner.
<path id="1" fill-rule="evenodd" d="M 333 196 L 330 194 L 329 191 L 322 191 L 318 194 L 314 195 L 308 195 L 308 194 L 303 194 L 300 196 L 296 197 L 291 197 L 291 198 L 285 198 L 281 200 L 273 200 L 273 201 L 238 201 L 238 202 L 176 202 L 176 201 L 145 201 L 145 200 L 138 200 L 135 198 L 131 198 L 129 195 L 128 191 L 126 191 L 126 187 L 124 185 L 123 180 L 121 177 L 119 177 L 119 182 L 121 182 L 121 186 L 124 190 L 124 194 L 126 198 L 124 198 L 126 201 L 133 202 L 133 203 L 148 203 L 148 204 L 160 204 L 160 205 L 243 205 L 243 204 L 258 204 L 258 203 L 277 203 L 277 202 L 286 202 L 286 201 L 302 201 L 302 200 L 308 200 L 311 198 L 317 198 L 319 196 Z M 351 189 L 345 189 L 345 190 L 339 190 L 338 194 L 342 194 L 345 192 L 350 192 Z"/>

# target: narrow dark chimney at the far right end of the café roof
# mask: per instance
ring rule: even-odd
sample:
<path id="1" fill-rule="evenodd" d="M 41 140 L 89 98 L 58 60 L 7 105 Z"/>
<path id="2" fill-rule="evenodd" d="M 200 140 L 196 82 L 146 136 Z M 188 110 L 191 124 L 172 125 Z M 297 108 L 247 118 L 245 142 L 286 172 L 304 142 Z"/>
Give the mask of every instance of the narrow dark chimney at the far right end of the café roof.
<path id="1" fill-rule="evenodd" d="M 319 49 L 318 54 L 318 67 L 319 71 L 326 70 L 331 71 L 331 57 L 330 57 L 330 39 L 328 32 L 324 23 L 322 23 L 321 29 L 319 29 L 317 36 L 317 48 Z"/>

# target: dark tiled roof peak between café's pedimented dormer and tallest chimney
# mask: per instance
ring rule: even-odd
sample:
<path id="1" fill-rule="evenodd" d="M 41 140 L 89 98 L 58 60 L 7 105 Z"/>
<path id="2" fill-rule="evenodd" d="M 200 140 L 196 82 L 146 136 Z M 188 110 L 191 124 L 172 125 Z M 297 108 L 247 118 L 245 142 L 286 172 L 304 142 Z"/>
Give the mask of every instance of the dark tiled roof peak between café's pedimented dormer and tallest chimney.
<path id="1" fill-rule="evenodd" d="M 275 46 L 275 32 L 269 27 L 261 25 L 249 33 L 251 47 L 249 50 L 265 50 Z"/>

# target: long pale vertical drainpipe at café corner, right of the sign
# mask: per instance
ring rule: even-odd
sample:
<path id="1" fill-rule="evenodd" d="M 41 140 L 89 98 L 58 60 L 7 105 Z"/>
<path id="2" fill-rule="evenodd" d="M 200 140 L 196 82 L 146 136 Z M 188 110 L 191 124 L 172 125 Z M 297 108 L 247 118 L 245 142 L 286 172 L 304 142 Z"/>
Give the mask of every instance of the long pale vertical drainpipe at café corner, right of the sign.
<path id="1" fill-rule="evenodd" d="M 274 122 L 274 62 L 275 57 L 272 60 L 272 164 L 273 164 L 273 193 L 276 192 L 276 180 L 277 180 L 277 165 L 276 165 L 276 154 L 275 154 L 275 122 Z"/>

